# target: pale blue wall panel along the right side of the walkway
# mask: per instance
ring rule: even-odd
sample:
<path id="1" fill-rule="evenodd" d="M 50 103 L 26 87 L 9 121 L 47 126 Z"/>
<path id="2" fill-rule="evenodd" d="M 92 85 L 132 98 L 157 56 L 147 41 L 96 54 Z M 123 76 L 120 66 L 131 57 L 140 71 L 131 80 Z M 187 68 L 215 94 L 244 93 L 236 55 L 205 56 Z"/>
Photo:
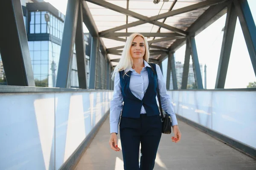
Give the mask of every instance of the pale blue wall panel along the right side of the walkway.
<path id="1" fill-rule="evenodd" d="M 168 91 L 175 113 L 256 148 L 256 92 Z"/>

